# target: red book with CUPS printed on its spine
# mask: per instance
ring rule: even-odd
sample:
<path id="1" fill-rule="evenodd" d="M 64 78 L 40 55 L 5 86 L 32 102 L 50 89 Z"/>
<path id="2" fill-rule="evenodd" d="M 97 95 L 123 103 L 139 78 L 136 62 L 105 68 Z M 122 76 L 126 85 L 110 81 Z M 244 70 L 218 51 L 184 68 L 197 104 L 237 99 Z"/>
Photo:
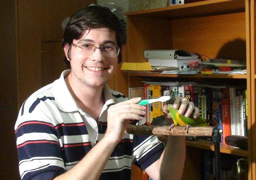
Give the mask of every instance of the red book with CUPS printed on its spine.
<path id="1" fill-rule="evenodd" d="M 222 137 L 225 143 L 225 138 L 231 135 L 230 95 L 229 88 L 222 88 L 221 91 Z"/>

